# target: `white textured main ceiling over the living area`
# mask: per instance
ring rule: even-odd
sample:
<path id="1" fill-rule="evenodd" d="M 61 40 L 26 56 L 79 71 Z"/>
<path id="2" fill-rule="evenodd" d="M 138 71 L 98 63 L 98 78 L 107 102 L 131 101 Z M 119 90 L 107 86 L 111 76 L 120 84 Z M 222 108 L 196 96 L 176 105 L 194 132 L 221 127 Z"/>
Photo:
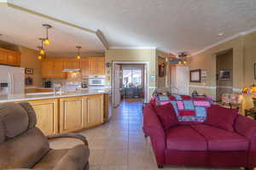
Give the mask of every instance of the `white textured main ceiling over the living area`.
<path id="1" fill-rule="evenodd" d="M 256 0 L 9 2 L 94 31 L 100 29 L 110 48 L 156 47 L 193 54 L 256 27 Z M 34 17 L 29 20 L 30 24 Z M 220 32 L 224 33 L 222 37 L 218 36 Z M 76 33 L 78 36 L 79 32 Z"/>

